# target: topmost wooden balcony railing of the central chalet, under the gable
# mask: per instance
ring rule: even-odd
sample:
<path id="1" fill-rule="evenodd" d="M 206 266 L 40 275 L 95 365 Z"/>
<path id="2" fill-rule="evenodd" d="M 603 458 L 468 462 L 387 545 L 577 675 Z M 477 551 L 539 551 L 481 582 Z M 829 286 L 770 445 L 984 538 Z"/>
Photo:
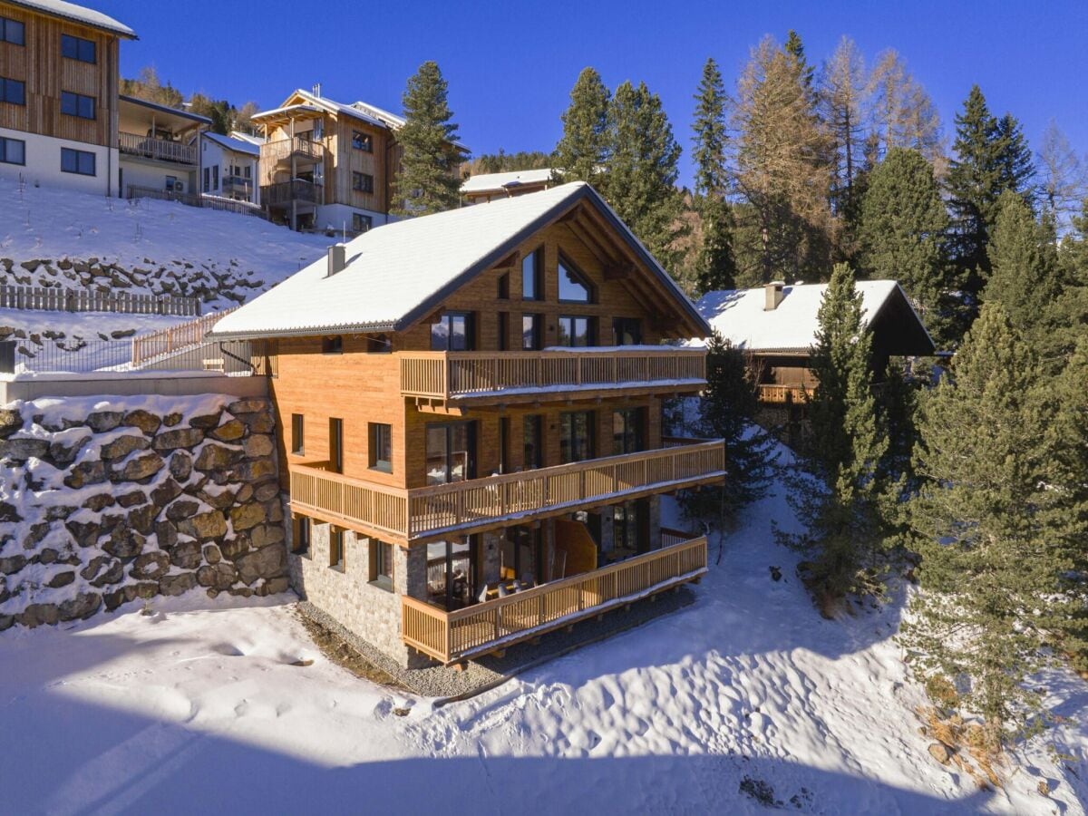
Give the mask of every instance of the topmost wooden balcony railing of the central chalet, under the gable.
<path id="1" fill-rule="evenodd" d="M 400 393 L 431 399 L 653 385 L 702 387 L 704 349 L 400 351 Z"/>

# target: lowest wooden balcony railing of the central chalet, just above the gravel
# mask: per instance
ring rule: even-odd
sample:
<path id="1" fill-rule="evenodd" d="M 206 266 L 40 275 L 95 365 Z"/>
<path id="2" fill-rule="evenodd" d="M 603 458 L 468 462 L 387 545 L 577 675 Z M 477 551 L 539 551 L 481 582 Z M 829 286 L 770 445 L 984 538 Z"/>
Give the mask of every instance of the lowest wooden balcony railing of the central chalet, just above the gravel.
<path id="1" fill-rule="evenodd" d="M 457 663 L 697 580 L 705 572 L 704 536 L 454 611 L 401 595 L 400 636 L 442 663 Z"/>

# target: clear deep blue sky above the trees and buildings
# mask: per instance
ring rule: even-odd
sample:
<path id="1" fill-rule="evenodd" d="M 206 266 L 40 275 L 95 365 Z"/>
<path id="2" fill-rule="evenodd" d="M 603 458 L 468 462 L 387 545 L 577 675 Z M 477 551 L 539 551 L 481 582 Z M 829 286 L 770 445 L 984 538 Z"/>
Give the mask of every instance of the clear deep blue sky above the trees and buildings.
<path id="1" fill-rule="evenodd" d="M 578 72 L 609 87 L 644 79 L 658 92 L 691 177 L 692 94 L 714 57 L 727 85 L 764 34 L 802 36 L 817 64 L 839 37 L 870 62 L 894 47 L 929 90 L 952 135 L 973 83 L 996 113 L 1012 112 L 1033 149 L 1053 118 L 1088 151 L 1088 2 L 506 2 L 406 0 L 86 0 L 135 28 L 122 74 L 154 64 L 186 96 L 195 90 L 274 107 L 320 82 L 341 101 L 400 110 L 406 78 L 437 60 L 462 141 L 474 153 L 551 150 Z"/>

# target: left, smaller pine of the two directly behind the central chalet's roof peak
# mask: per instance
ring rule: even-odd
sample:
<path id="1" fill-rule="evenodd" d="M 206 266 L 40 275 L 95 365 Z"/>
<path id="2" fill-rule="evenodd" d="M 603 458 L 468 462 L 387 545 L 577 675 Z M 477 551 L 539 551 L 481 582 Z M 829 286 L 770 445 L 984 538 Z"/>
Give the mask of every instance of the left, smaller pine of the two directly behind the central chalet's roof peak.
<path id="1" fill-rule="evenodd" d="M 608 160 L 608 88 L 592 67 L 582 69 L 562 114 L 562 137 L 555 147 L 554 174 L 560 182 L 589 182 L 603 193 Z"/>

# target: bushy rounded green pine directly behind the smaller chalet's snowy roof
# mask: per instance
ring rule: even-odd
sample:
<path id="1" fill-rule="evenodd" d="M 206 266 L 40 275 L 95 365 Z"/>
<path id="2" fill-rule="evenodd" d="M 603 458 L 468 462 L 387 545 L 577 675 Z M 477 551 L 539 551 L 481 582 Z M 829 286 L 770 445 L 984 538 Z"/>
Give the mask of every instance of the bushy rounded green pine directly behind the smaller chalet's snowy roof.
<path id="1" fill-rule="evenodd" d="M 866 277 L 899 281 L 930 331 L 945 334 L 948 213 L 934 169 L 920 153 L 892 148 L 868 176 L 858 260 Z"/>

